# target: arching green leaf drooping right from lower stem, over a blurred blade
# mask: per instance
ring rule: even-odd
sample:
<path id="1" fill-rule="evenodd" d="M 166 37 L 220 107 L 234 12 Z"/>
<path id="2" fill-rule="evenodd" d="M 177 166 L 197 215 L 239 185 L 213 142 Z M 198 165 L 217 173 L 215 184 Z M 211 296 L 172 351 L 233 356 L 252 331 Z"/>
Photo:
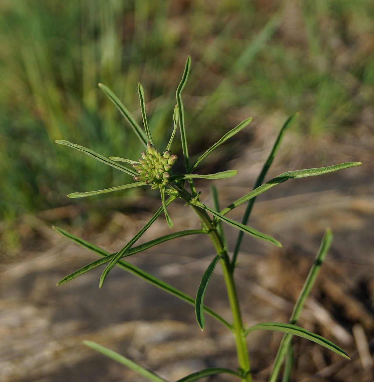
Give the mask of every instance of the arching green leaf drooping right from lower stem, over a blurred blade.
<path id="1" fill-rule="evenodd" d="M 293 335 L 297 335 L 299 337 L 307 338 L 307 340 L 313 341 L 315 343 L 318 343 L 325 348 L 328 348 L 335 353 L 339 354 L 340 356 L 344 358 L 348 358 L 348 354 L 345 353 L 344 350 L 340 349 L 339 346 L 335 345 L 331 341 L 327 340 L 324 337 L 321 337 L 318 334 L 308 332 L 308 330 L 301 328 L 296 325 L 292 324 L 283 324 L 280 322 L 264 322 L 262 324 L 256 324 L 251 327 L 249 327 L 247 330 L 245 330 L 244 334 L 247 335 L 250 332 L 253 332 L 253 330 L 274 330 L 276 332 L 283 332 L 283 333 L 290 333 Z"/>

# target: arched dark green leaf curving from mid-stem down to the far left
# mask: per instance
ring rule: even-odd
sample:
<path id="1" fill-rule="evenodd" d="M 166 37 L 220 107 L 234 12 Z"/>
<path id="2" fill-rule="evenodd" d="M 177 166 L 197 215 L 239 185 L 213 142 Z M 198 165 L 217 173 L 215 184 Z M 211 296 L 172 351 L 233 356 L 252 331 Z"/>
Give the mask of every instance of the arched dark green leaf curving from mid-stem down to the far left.
<path id="1" fill-rule="evenodd" d="M 55 227 L 53 227 L 53 228 L 56 229 Z M 59 231 L 63 231 L 63 232 L 60 232 L 60 233 L 62 233 L 62 235 L 66 236 L 66 237 L 68 237 L 70 239 L 71 239 L 70 236 L 74 236 L 74 235 L 71 235 L 67 231 L 61 230 L 61 228 L 59 228 L 58 230 Z M 56 231 L 57 231 L 57 229 L 56 229 Z M 161 237 L 159 237 L 157 239 L 150 240 L 150 241 L 147 241 L 146 243 L 143 243 L 143 244 L 140 244 L 140 245 L 138 245 L 136 247 L 130 248 L 123 255 L 123 257 L 131 256 L 131 255 L 134 255 L 136 253 L 145 251 L 145 249 L 151 248 L 151 247 L 153 247 L 153 246 L 155 246 L 157 244 L 163 243 L 165 241 L 169 241 L 171 239 L 176 239 L 176 238 L 179 238 L 179 237 L 182 237 L 182 236 L 187 236 L 187 235 L 195 235 L 195 234 L 198 234 L 198 233 L 206 233 L 206 231 L 204 231 L 204 230 L 184 230 L 184 231 L 178 231 L 178 232 L 169 233 L 169 235 L 161 236 Z M 79 238 L 77 236 L 74 236 L 74 237 L 79 240 Z M 80 240 L 83 240 L 83 239 L 80 239 Z M 75 240 L 73 239 L 73 241 L 75 241 Z M 77 241 L 75 241 L 75 242 L 77 242 Z M 88 244 L 90 244 L 90 243 L 88 243 Z M 85 246 L 85 245 L 83 245 L 83 246 L 85 248 L 91 249 L 88 246 Z M 97 248 L 99 248 L 99 247 L 97 247 Z M 62 285 L 62 284 L 66 283 L 66 282 L 68 282 L 70 280 L 73 280 L 75 277 L 83 275 L 84 273 L 88 272 L 91 269 L 94 269 L 96 267 L 99 267 L 100 265 L 104 265 L 104 264 L 108 263 L 110 260 L 113 259 L 113 256 L 115 256 L 115 254 L 117 254 L 117 252 L 115 252 L 115 253 L 112 253 L 112 254 L 105 255 L 104 253 L 106 253 L 106 252 L 103 249 L 102 249 L 102 253 L 103 253 L 103 256 L 105 256 L 105 257 L 103 257 L 101 259 L 98 259 L 96 261 L 93 261 L 90 264 L 87 264 L 84 267 L 82 267 L 82 268 L 76 270 L 75 272 L 71 273 L 70 275 L 67 275 L 57 285 Z"/>

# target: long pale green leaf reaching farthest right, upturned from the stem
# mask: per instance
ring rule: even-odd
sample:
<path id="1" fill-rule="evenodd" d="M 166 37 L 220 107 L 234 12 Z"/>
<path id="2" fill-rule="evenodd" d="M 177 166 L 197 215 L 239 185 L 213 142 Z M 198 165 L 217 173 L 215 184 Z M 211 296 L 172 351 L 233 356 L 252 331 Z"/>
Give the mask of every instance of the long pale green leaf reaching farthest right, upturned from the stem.
<path id="1" fill-rule="evenodd" d="M 249 199 L 252 199 L 253 197 L 262 194 L 263 192 L 267 191 L 268 189 L 279 185 L 280 183 L 285 182 L 288 179 L 294 178 L 305 178 L 307 176 L 315 176 L 315 175 L 323 175 L 327 174 L 329 172 L 334 172 L 338 170 L 342 170 L 343 168 L 353 167 L 353 166 L 359 166 L 361 165 L 361 162 L 347 162 L 347 163 L 340 163 L 338 165 L 332 165 L 327 167 L 320 167 L 320 168 L 307 168 L 306 170 L 296 170 L 296 171 L 288 171 L 284 172 L 281 175 L 278 175 L 277 177 L 270 179 L 268 182 L 264 183 L 263 185 L 257 187 L 250 193 L 246 194 L 245 196 L 242 196 L 235 202 L 231 203 L 229 206 L 227 206 L 225 209 L 221 211 L 222 215 L 227 214 L 227 212 L 231 211 L 235 207 L 240 206 L 240 204 L 246 202 Z"/>

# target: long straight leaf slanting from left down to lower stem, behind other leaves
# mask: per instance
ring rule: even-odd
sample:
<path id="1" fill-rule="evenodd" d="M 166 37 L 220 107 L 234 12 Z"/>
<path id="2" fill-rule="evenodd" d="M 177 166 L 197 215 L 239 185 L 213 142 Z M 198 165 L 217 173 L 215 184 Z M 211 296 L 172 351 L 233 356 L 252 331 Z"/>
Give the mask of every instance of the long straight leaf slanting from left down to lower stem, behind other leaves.
<path id="1" fill-rule="evenodd" d="M 61 233 L 62 236 L 65 236 L 66 238 L 74 241 L 74 243 L 77 243 L 77 244 L 83 246 L 84 248 L 90 249 L 90 251 L 93 251 L 94 253 L 98 254 L 99 256 L 106 257 L 106 256 L 110 255 L 109 252 L 104 251 L 104 249 L 96 246 L 95 244 L 89 243 L 88 241 L 83 240 L 83 239 L 79 238 L 78 236 L 73 235 L 70 232 L 62 230 L 61 228 L 58 228 L 58 227 L 53 227 L 53 229 L 55 231 Z M 170 235 L 173 235 L 173 234 L 170 234 Z M 180 298 L 181 300 L 185 301 L 186 303 L 189 303 L 190 305 L 195 306 L 195 299 L 193 297 L 187 295 L 186 293 L 180 291 L 177 288 L 174 288 L 174 286 L 171 286 L 168 283 L 163 282 L 162 280 L 158 279 L 157 277 L 150 275 L 149 273 L 145 272 L 144 270 L 139 269 L 135 265 L 130 264 L 129 262 L 126 262 L 123 260 L 118 261 L 117 265 L 118 265 L 118 267 L 130 272 L 134 276 L 142 278 L 146 282 L 148 282 L 154 286 L 157 286 L 157 288 L 160 288 L 160 289 L 170 293 L 171 295 Z M 209 316 L 212 316 L 216 320 L 221 322 L 228 329 L 230 329 L 230 330 L 232 329 L 232 326 L 225 319 L 223 319 L 221 316 L 219 316 L 219 314 L 214 312 L 212 309 L 208 308 L 207 306 L 204 306 L 204 311 L 206 312 L 206 314 L 209 314 Z"/>

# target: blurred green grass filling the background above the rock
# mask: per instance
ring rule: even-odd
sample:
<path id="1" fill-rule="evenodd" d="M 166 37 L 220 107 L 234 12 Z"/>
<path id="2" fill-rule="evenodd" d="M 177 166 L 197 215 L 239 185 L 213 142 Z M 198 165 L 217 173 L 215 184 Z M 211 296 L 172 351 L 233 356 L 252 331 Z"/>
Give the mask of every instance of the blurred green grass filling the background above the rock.
<path id="1" fill-rule="evenodd" d="M 0 12 L 3 219 L 70 204 L 65 195 L 73 191 L 131 181 L 53 142 L 139 156 L 141 146 L 99 82 L 140 121 L 140 81 L 153 135 L 167 133 L 155 139 L 162 145 L 192 55 L 184 97 L 195 154 L 238 115 L 299 111 L 301 133 L 339 134 L 374 100 L 368 0 L 8 0 Z"/>

